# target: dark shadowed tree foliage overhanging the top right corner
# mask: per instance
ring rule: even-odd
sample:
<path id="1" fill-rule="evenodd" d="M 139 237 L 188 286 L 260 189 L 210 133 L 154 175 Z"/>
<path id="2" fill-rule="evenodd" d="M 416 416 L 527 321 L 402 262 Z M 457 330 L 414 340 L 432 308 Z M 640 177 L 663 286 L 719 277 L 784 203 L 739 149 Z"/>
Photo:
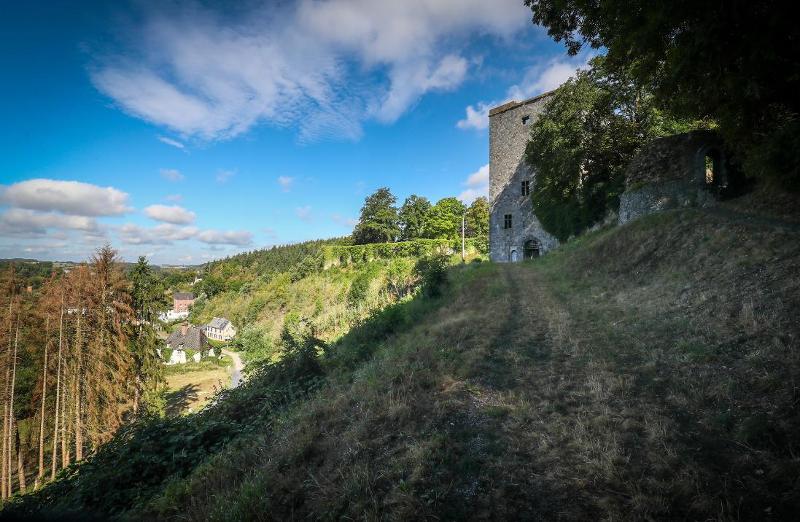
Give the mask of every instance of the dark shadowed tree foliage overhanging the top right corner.
<path id="1" fill-rule="evenodd" d="M 800 188 L 800 38 L 788 4 L 526 0 L 570 54 L 606 48 L 681 117 L 713 118 L 749 174 Z M 630 64 L 635 59 L 635 65 Z"/>

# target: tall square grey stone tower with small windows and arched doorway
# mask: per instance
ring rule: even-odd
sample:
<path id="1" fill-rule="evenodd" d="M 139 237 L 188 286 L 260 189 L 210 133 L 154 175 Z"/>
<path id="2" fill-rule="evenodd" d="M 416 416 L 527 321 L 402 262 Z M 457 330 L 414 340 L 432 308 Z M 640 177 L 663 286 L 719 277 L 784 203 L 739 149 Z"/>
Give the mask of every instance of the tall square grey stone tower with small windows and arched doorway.
<path id="1" fill-rule="evenodd" d="M 544 109 L 545 93 L 489 111 L 489 257 L 495 262 L 536 257 L 558 245 L 533 214 L 535 173 L 525 164 L 531 125 Z"/>

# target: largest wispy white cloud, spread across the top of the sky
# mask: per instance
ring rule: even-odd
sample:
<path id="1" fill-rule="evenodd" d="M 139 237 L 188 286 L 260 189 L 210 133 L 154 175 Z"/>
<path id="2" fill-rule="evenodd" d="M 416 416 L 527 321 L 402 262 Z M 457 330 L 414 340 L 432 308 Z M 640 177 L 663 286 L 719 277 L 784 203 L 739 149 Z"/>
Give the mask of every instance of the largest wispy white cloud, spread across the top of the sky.
<path id="1" fill-rule="evenodd" d="M 238 15 L 198 4 L 151 13 L 130 35 L 138 47 L 99 63 L 92 80 L 183 136 L 225 139 L 267 122 L 296 126 L 301 140 L 357 139 L 365 120 L 391 123 L 458 86 L 471 37 L 529 23 L 519 0 L 298 0 Z"/>

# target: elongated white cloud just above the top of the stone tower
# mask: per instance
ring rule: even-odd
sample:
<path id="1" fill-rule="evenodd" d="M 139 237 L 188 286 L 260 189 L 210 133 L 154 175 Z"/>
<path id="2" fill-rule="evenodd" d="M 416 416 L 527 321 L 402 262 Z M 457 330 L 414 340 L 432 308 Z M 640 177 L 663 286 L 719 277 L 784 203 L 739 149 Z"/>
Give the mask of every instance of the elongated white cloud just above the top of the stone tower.
<path id="1" fill-rule="evenodd" d="M 551 60 L 547 65 L 534 65 L 529 67 L 523 75 L 522 81 L 508 88 L 502 101 L 480 101 L 475 105 L 468 105 L 466 115 L 456 122 L 459 129 L 484 130 L 489 126 L 489 110 L 512 100 L 522 101 L 539 94 L 557 89 L 569 80 L 580 69 L 585 69 L 591 54 L 582 54 L 575 58 Z"/>

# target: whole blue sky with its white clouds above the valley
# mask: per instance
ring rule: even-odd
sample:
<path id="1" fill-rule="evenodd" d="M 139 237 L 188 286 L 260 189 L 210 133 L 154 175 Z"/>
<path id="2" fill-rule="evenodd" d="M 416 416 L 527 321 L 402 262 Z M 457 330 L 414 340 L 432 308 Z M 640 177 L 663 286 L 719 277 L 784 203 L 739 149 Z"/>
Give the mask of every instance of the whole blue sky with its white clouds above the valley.
<path id="1" fill-rule="evenodd" d="M 196 264 L 484 194 L 488 108 L 586 57 L 522 0 L 65 0 L 6 6 L 0 60 L 0 257 Z"/>

